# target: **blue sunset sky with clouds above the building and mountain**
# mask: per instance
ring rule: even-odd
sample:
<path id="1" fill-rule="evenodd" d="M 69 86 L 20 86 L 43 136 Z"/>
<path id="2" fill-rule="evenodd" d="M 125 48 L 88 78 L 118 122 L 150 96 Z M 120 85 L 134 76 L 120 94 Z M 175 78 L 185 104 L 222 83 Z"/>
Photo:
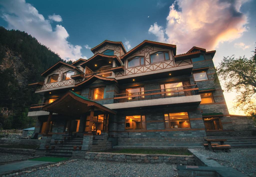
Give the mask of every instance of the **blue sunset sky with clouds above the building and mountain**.
<path id="1" fill-rule="evenodd" d="M 177 45 L 177 54 L 216 50 L 217 67 L 224 56 L 251 57 L 255 7 L 254 0 L 0 0 L 0 26 L 31 34 L 64 60 L 90 58 L 104 40 L 122 41 L 127 51 L 152 40 Z M 224 96 L 230 114 L 243 114 L 232 108 L 236 93 Z"/>

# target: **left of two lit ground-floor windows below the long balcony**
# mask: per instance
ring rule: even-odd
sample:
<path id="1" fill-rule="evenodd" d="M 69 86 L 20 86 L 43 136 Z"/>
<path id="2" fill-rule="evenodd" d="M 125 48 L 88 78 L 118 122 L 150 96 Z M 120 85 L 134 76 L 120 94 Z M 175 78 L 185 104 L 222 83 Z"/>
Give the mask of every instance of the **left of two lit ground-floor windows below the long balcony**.
<path id="1" fill-rule="evenodd" d="M 145 115 L 126 116 L 125 129 L 146 129 Z"/>

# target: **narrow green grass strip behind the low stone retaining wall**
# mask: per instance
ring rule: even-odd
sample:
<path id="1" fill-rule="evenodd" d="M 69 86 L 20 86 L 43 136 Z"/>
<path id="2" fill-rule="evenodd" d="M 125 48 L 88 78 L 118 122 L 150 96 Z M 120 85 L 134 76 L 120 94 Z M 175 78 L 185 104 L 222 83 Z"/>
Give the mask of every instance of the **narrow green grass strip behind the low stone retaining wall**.
<path id="1" fill-rule="evenodd" d="M 124 153 L 124 154 L 171 154 L 171 155 L 191 155 L 187 150 L 168 149 L 109 149 L 101 152 Z"/>

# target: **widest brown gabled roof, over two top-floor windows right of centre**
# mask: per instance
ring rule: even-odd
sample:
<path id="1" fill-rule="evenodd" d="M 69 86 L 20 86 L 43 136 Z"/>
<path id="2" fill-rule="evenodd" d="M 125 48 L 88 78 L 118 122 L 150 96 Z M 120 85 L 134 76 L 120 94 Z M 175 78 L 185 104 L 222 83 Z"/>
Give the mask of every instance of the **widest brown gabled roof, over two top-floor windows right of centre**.
<path id="1" fill-rule="evenodd" d="M 176 45 L 144 40 L 142 43 L 140 43 L 139 45 L 137 45 L 136 47 L 131 49 L 129 52 L 127 52 L 126 54 L 121 56 L 121 59 L 125 59 L 125 58 L 131 56 L 132 54 L 134 54 L 135 52 L 137 52 L 138 50 L 140 50 L 141 48 L 143 48 L 146 45 L 153 45 L 153 46 L 165 48 L 165 49 L 174 49 L 173 53 L 174 53 L 174 55 L 176 55 Z"/>

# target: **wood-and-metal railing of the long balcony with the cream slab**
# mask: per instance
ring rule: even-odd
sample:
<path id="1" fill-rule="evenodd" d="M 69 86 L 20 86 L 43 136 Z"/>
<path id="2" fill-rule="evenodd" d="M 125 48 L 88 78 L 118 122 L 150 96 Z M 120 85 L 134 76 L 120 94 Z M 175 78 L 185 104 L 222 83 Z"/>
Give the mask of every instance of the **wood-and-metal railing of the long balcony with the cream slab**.
<path id="1" fill-rule="evenodd" d="M 197 95 L 197 85 L 114 95 L 114 103 Z"/>

